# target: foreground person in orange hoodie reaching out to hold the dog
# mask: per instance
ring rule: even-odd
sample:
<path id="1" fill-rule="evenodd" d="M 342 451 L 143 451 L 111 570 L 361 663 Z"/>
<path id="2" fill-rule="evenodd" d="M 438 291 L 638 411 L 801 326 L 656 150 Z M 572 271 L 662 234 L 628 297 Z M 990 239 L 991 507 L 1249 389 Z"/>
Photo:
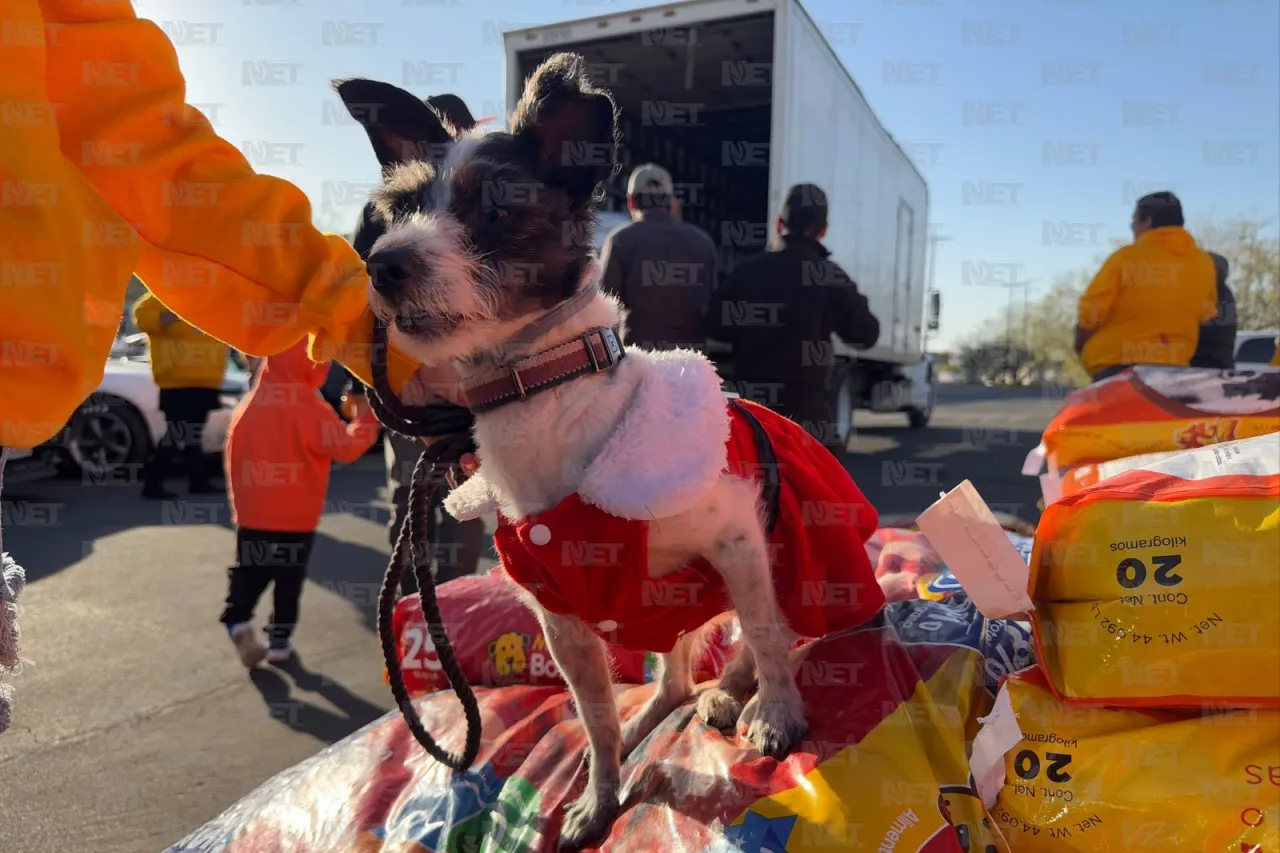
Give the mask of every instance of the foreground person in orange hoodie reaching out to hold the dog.
<path id="1" fill-rule="evenodd" d="M 0 33 L 0 476 L 6 447 L 58 434 L 101 382 L 134 272 L 242 352 L 310 334 L 315 361 L 370 382 L 364 263 L 312 227 L 300 188 L 256 174 L 187 105 L 159 26 L 129 0 L 3 0 Z M 394 391 L 416 378 L 458 400 L 447 370 L 425 373 L 390 351 Z M 8 557 L 3 579 L 20 588 Z M 14 612 L 0 606 L 0 635 L 15 637 Z M 6 708 L 0 685 L 0 730 Z"/>

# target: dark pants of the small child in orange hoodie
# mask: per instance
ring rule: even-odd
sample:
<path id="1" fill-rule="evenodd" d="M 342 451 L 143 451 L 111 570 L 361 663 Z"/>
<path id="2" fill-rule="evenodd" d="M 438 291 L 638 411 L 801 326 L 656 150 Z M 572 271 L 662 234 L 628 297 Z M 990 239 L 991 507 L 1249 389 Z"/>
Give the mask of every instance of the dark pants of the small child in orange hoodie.
<path id="1" fill-rule="evenodd" d="M 285 646 L 298 624 L 298 602 L 307 579 L 307 561 L 315 533 L 236 530 L 236 565 L 228 569 L 223 625 L 253 619 L 259 598 L 274 584 L 273 610 L 266 633 L 273 646 Z"/>

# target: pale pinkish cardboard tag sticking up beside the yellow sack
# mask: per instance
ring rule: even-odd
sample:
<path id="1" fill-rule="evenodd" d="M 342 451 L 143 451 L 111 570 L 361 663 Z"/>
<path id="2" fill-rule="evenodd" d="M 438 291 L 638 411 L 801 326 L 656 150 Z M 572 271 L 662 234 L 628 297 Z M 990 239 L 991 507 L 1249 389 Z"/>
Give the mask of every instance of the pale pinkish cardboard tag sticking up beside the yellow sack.
<path id="1" fill-rule="evenodd" d="M 965 480 L 916 519 L 929 544 L 987 619 L 1032 611 L 1030 569 L 973 483 Z"/>

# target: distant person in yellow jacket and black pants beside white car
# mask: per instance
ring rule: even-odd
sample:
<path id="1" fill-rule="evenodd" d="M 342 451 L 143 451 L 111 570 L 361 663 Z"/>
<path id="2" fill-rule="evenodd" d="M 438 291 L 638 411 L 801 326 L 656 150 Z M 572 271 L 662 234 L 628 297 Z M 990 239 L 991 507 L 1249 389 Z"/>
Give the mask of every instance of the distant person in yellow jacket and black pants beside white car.
<path id="1" fill-rule="evenodd" d="M 133 324 L 150 341 L 151 377 L 160 389 L 160 411 L 165 419 L 164 438 L 147 462 L 142 497 L 177 497 L 165 489 L 164 479 L 179 448 L 191 493 L 220 492 L 205 471 L 202 435 L 209 414 L 220 405 L 230 356 L 227 345 L 186 323 L 151 293 L 145 293 L 133 306 Z"/>

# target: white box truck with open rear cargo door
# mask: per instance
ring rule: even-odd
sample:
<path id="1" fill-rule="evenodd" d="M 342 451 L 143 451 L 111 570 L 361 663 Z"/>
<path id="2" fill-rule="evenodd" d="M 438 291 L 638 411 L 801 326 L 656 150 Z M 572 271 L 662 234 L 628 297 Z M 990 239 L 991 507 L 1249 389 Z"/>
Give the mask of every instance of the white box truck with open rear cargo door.
<path id="1" fill-rule="evenodd" d="M 924 337 L 940 309 L 936 293 L 925 298 L 928 188 L 797 0 L 684 0 L 509 31 L 504 41 L 507 104 L 552 54 L 585 56 L 621 109 L 625 165 L 672 173 L 685 219 L 721 246 L 722 270 L 764 250 L 787 188 L 822 187 L 823 242 L 881 321 L 870 350 L 832 342 L 837 426 L 847 435 L 855 407 L 928 423 Z M 607 210 L 623 207 L 626 173 Z"/>

